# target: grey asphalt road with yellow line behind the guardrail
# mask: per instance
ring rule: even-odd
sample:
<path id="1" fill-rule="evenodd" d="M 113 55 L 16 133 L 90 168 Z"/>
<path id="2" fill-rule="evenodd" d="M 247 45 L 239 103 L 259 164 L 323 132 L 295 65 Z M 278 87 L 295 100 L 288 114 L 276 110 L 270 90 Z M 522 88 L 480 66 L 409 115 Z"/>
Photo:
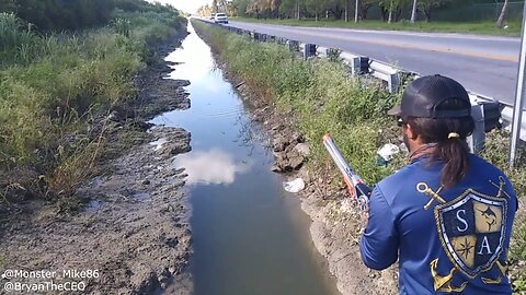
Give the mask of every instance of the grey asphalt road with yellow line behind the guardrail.
<path id="1" fill-rule="evenodd" d="M 515 101 L 519 38 L 243 22 L 230 22 L 229 25 L 340 48 L 421 74 L 448 75 L 472 92 L 507 104 Z"/>

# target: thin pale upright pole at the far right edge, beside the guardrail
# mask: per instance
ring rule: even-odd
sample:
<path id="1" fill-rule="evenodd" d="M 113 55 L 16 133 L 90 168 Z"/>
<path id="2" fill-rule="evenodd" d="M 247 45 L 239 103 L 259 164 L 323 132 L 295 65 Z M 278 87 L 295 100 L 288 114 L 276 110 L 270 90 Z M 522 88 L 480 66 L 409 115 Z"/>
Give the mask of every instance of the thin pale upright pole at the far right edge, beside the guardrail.
<path id="1" fill-rule="evenodd" d="M 517 150 L 518 143 L 521 141 L 521 129 L 523 121 L 523 103 L 525 96 L 525 81 L 524 75 L 526 74 L 526 36 L 525 36 L 525 26 L 526 26 L 526 4 L 523 9 L 523 33 L 521 34 L 521 55 L 518 59 L 518 78 L 517 78 L 517 87 L 515 90 L 515 104 L 513 105 L 513 119 L 512 119 L 512 137 L 510 139 L 510 167 L 515 166 L 515 161 L 517 160 Z"/>

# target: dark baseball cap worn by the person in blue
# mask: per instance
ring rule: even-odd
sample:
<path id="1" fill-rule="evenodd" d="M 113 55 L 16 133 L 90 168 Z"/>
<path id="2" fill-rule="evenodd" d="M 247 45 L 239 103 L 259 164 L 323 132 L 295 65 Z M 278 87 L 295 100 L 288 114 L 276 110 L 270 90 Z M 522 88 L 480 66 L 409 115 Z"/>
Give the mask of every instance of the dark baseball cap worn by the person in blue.
<path id="1" fill-rule="evenodd" d="M 455 102 L 451 103 L 451 99 Z M 426 75 L 411 82 L 403 92 L 401 105 L 387 114 L 433 119 L 462 118 L 471 116 L 471 103 L 468 92 L 457 81 L 439 74 Z"/>

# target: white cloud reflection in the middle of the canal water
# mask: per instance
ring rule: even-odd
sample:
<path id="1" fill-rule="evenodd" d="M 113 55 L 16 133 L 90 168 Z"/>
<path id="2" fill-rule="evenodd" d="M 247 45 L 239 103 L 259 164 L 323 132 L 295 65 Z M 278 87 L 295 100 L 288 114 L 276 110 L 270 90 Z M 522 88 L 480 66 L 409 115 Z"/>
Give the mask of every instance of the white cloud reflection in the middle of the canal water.
<path id="1" fill-rule="evenodd" d="M 248 162 L 236 163 L 230 154 L 219 149 L 179 155 L 174 165 L 186 168 L 187 184 L 205 185 L 230 185 L 238 174 L 250 168 Z"/>

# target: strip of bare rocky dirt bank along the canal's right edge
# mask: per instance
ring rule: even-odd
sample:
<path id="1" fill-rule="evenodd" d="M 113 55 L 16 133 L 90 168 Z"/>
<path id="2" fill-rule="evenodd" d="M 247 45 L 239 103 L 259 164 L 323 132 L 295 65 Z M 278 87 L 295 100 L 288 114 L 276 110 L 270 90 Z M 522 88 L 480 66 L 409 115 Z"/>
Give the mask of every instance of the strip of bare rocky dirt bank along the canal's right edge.
<path id="1" fill-rule="evenodd" d="M 222 67 L 226 69 L 226 67 Z M 268 131 L 275 157 L 274 172 L 286 173 L 294 179 L 301 177 L 306 188 L 298 196 L 301 209 L 312 219 L 310 233 L 320 253 L 328 259 L 329 269 L 338 280 L 338 288 L 351 294 L 398 294 L 398 271 L 391 267 L 385 271 L 367 269 L 359 257 L 361 217 L 350 202 L 346 190 L 334 188 L 331 179 L 340 176 L 327 172 L 309 170 L 309 145 L 294 130 L 294 114 L 278 113 L 272 101 L 258 96 L 242 80 L 229 74 L 228 79 L 252 109 L 255 121 Z M 321 139 L 320 139 L 321 140 Z"/>

